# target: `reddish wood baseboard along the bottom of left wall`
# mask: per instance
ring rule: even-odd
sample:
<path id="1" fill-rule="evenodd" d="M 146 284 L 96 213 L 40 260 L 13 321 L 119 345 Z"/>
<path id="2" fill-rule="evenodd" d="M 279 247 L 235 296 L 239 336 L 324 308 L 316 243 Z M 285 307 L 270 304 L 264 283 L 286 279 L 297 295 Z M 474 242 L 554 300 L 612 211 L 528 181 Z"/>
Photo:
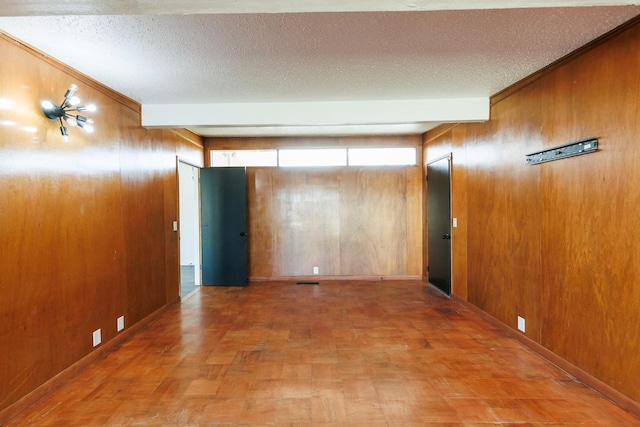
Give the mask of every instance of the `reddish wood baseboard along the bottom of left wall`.
<path id="1" fill-rule="evenodd" d="M 15 417 L 17 414 L 36 403 L 38 400 L 42 399 L 44 396 L 51 393 L 56 388 L 72 379 L 84 368 L 101 359 L 114 349 L 118 348 L 134 334 L 138 333 L 139 331 L 147 327 L 153 320 L 164 314 L 170 307 L 173 307 L 174 304 L 179 303 L 179 301 L 180 299 L 177 298 L 174 301 L 160 307 L 158 310 L 140 320 L 138 323 L 132 325 L 128 329 L 125 329 L 119 335 L 116 335 L 112 340 L 105 342 L 103 345 L 96 348 L 91 353 L 75 362 L 73 365 L 69 366 L 65 370 L 49 379 L 40 387 L 24 395 L 20 400 L 16 401 L 11 406 L 8 406 L 7 408 L 0 411 L 0 425 L 8 423 L 11 418 Z"/>

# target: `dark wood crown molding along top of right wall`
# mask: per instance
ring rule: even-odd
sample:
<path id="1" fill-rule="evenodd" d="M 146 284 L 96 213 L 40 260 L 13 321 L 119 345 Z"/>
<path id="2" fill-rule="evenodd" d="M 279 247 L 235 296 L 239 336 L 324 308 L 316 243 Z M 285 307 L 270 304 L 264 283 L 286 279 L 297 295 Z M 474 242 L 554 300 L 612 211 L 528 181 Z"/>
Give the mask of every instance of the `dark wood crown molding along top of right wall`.
<path id="1" fill-rule="evenodd" d="M 603 34 L 602 36 L 592 40 L 591 42 L 585 44 L 584 46 L 577 48 L 573 52 L 568 53 L 567 55 L 563 56 L 562 58 L 552 62 L 551 64 L 547 65 L 544 68 L 541 68 L 540 70 L 538 70 L 538 71 L 534 72 L 533 74 L 525 77 L 524 79 L 512 84 L 511 86 L 507 87 L 506 89 L 503 89 L 500 92 L 494 94 L 490 99 L 489 105 L 491 107 L 493 107 L 498 102 L 504 100 L 505 98 L 508 98 L 509 96 L 513 95 L 514 93 L 518 92 L 519 90 L 525 88 L 526 86 L 528 86 L 528 85 L 532 84 L 533 82 L 535 82 L 535 81 L 541 79 L 542 77 L 546 76 L 547 74 L 552 73 L 553 71 L 557 70 L 558 68 L 560 68 L 563 65 L 567 64 L 568 62 L 571 62 L 575 58 L 583 55 L 585 52 L 588 52 L 588 51 L 600 46 L 601 44 L 605 43 L 606 41 L 616 37 L 617 35 L 625 32 L 626 30 L 628 30 L 629 28 L 637 25 L 638 23 L 640 23 L 640 15 L 636 16 L 635 18 L 630 19 L 629 21 L 627 21 L 624 24 L 614 28 L 613 30 L 609 31 L 608 33 Z"/>

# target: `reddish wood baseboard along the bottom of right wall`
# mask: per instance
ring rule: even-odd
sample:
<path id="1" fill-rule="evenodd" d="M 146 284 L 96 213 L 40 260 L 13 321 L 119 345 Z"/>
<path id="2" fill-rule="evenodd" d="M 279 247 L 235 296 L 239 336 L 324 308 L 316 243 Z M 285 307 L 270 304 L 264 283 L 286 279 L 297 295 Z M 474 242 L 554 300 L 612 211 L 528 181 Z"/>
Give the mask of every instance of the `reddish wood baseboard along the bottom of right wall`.
<path id="1" fill-rule="evenodd" d="M 533 341 L 532 339 L 528 338 L 527 336 L 525 336 L 524 334 L 520 333 L 519 331 L 516 331 L 515 329 L 507 326 L 506 324 L 502 323 L 501 321 L 499 321 L 495 317 L 491 316 L 490 314 L 486 313 L 485 311 L 483 311 L 482 309 L 476 307 L 475 305 L 471 304 L 470 302 L 465 301 L 465 300 L 463 300 L 460 297 L 457 297 L 455 295 L 452 295 L 451 299 L 455 300 L 456 302 L 460 303 L 461 305 L 467 307 L 468 309 L 473 311 L 475 314 L 477 314 L 482 319 L 484 319 L 484 320 L 488 321 L 489 323 L 491 323 L 492 325 L 498 327 L 501 331 L 505 332 L 507 335 L 511 336 L 512 338 L 517 339 L 522 344 L 524 344 L 525 346 L 527 346 L 528 348 L 530 348 L 534 352 L 538 353 L 538 355 L 540 355 L 541 357 L 547 359 L 549 362 L 553 363 L 558 368 L 562 369 L 563 371 L 565 371 L 568 374 L 572 375 L 573 377 L 575 377 L 576 379 L 578 379 L 582 383 L 584 383 L 587 386 L 591 387 L 593 390 L 595 390 L 598 393 L 602 394 L 604 397 L 606 397 L 607 399 L 611 400 L 613 403 L 615 403 L 616 405 L 618 405 L 619 407 L 621 407 L 625 411 L 627 411 L 627 412 L 629 412 L 629 413 L 631 413 L 631 414 L 633 414 L 633 415 L 635 415 L 637 417 L 640 417 L 640 403 L 639 402 L 636 402 L 636 401 L 630 399 L 629 397 L 627 397 L 624 394 L 620 393 L 618 390 L 614 389 L 610 385 L 605 384 L 604 382 L 600 381 L 599 379 L 597 379 L 593 375 L 591 375 L 588 372 L 580 369 L 579 367 L 575 366 L 571 362 L 563 359 L 562 357 L 558 356 L 557 354 L 555 354 L 554 352 L 552 352 L 548 348 L 543 347 L 542 345 L 540 345 L 537 342 Z"/>

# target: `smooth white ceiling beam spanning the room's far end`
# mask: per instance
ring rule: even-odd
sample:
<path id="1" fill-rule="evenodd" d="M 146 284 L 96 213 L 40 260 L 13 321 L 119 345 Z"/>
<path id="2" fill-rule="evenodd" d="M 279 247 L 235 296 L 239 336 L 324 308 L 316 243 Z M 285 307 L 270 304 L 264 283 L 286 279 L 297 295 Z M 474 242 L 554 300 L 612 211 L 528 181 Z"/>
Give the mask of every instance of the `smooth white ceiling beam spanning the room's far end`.
<path id="1" fill-rule="evenodd" d="M 296 128 L 296 133 L 319 127 L 329 133 L 373 131 L 372 125 L 378 132 L 420 133 L 433 123 L 486 120 L 489 98 L 142 105 L 143 127 L 189 128 L 206 135 L 226 135 L 245 126 L 262 128 L 262 133 L 284 127 Z"/>

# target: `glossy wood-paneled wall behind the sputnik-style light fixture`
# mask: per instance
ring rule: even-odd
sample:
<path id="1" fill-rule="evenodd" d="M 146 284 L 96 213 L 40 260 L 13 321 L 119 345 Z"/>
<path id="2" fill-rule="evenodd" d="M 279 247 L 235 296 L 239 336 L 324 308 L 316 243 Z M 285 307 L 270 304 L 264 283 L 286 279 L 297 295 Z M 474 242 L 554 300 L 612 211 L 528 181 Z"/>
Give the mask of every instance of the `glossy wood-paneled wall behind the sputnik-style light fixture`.
<path id="1" fill-rule="evenodd" d="M 0 34 L 0 411 L 179 296 L 176 157 L 186 132 L 140 127 L 139 105 Z M 48 120 L 69 84 L 96 132 Z"/>

